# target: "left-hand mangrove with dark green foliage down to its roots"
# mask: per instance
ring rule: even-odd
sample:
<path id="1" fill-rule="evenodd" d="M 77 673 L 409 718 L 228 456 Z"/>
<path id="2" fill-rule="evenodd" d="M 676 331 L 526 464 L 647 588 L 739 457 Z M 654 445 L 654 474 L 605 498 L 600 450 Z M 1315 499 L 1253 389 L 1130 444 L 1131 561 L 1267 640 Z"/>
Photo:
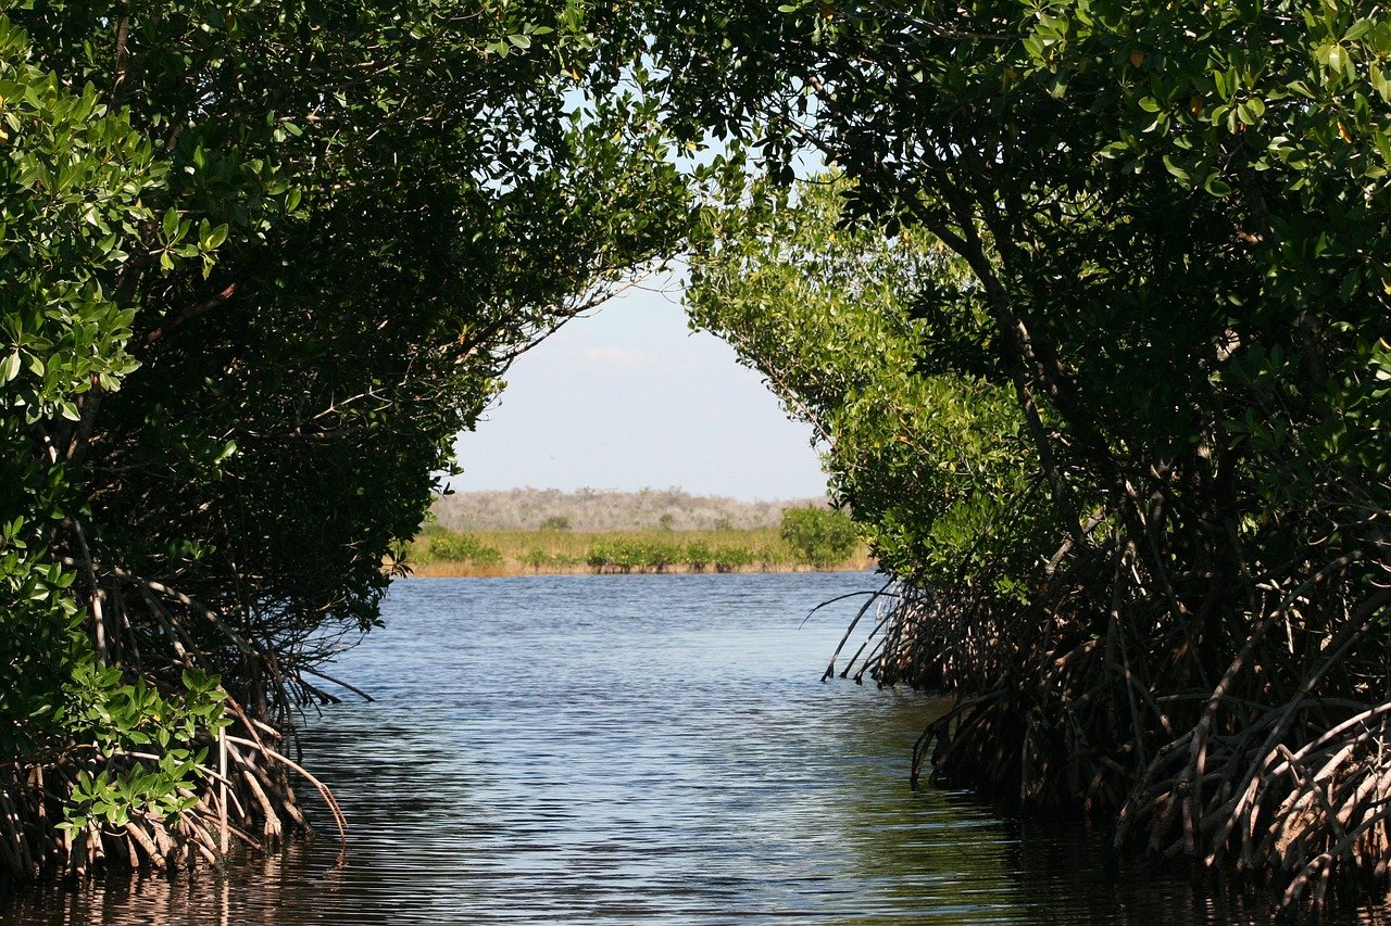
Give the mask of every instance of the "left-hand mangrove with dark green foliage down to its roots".
<path id="1" fill-rule="evenodd" d="M 302 822 L 455 434 L 687 220 L 597 15 L 0 4 L 0 870 Z"/>

